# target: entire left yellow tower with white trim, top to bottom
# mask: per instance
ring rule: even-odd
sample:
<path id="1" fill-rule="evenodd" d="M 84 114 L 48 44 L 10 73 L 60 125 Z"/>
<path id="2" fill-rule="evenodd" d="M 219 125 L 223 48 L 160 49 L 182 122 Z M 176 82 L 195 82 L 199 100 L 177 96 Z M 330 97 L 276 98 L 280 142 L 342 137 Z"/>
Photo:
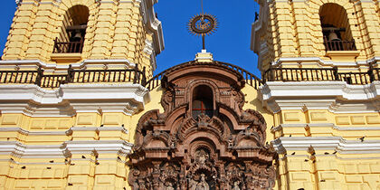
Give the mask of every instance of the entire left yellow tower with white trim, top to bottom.
<path id="1" fill-rule="evenodd" d="M 159 96 L 145 88 L 164 49 L 157 0 L 16 3 L 0 61 L 0 188 L 131 189 L 135 126 Z"/>

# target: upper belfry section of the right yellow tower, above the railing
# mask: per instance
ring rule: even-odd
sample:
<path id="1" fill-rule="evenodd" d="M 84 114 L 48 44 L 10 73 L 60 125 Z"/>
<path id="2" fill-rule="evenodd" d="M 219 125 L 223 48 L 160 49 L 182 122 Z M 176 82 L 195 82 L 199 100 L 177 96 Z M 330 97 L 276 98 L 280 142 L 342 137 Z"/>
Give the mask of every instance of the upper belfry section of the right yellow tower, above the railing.
<path id="1" fill-rule="evenodd" d="M 379 5 L 362 1 L 258 1 L 252 51 L 259 69 L 337 66 L 366 71 L 380 55 Z"/>

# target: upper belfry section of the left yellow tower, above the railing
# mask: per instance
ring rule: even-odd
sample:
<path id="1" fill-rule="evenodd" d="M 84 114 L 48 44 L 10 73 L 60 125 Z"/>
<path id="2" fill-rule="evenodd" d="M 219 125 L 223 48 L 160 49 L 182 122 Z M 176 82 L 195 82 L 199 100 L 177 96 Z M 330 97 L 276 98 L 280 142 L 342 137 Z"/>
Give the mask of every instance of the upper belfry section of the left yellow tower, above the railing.
<path id="1" fill-rule="evenodd" d="M 164 49 L 157 1 L 16 0 L 3 60 L 132 68 L 151 76 Z M 75 64 L 76 63 L 76 64 Z M 92 65 L 91 65 L 92 64 Z M 57 67 L 55 67 L 57 69 Z M 58 69 L 59 70 L 59 69 Z"/>

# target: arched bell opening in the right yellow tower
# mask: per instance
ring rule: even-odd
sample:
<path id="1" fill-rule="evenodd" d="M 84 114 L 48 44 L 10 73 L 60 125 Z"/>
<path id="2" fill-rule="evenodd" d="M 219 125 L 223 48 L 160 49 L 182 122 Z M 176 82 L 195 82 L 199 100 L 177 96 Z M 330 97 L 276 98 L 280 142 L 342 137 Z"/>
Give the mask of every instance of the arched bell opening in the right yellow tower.
<path id="1" fill-rule="evenodd" d="M 333 3 L 322 5 L 319 17 L 326 51 L 356 51 L 347 12 L 343 6 Z"/>

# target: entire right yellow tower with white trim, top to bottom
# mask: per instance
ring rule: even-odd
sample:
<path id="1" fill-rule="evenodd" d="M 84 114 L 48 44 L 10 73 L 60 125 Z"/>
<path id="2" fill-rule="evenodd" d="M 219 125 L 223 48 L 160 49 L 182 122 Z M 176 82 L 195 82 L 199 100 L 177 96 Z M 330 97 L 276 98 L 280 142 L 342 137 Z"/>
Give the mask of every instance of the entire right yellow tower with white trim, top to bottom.
<path id="1" fill-rule="evenodd" d="M 251 48 L 274 116 L 278 189 L 379 188 L 367 178 L 380 172 L 378 1 L 257 2 Z"/>

